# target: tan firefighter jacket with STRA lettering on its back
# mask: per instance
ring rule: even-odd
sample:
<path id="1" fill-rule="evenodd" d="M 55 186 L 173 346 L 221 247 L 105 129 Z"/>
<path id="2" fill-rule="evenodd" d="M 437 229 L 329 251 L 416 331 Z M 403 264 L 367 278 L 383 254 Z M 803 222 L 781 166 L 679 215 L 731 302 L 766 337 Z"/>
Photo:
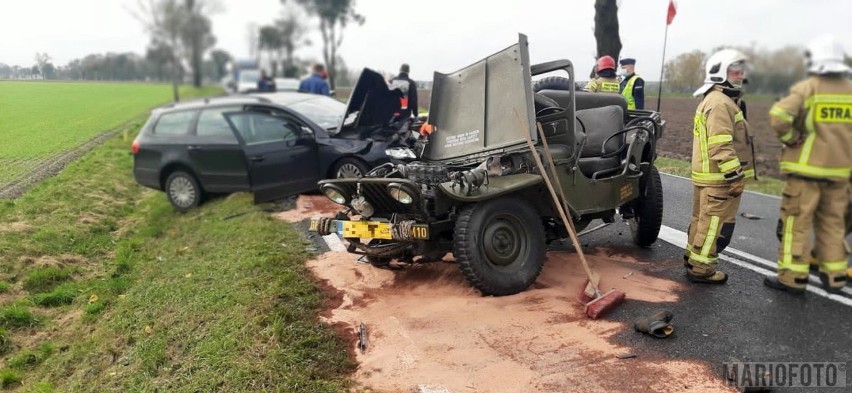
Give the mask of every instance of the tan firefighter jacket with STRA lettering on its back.
<path id="1" fill-rule="evenodd" d="M 846 181 L 852 174 L 852 81 L 811 76 L 769 111 L 784 143 L 781 173 Z"/>

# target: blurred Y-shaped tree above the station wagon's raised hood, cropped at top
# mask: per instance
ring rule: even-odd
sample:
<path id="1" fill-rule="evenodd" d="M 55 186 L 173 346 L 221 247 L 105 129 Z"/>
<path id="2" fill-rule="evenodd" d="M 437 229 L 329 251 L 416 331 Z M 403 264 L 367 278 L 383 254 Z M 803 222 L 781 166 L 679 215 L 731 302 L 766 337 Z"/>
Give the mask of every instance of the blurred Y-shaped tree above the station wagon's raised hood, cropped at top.
<path id="1" fill-rule="evenodd" d="M 355 0 L 295 0 L 308 14 L 320 20 L 322 34 L 322 57 L 329 70 L 329 86 L 335 88 L 337 52 L 343 44 L 343 30 L 350 22 L 364 24 L 364 17 L 355 12 Z M 612 0 L 615 1 L 615 0 Z M 287 0 L 281 0 L 286 3 Z"/>

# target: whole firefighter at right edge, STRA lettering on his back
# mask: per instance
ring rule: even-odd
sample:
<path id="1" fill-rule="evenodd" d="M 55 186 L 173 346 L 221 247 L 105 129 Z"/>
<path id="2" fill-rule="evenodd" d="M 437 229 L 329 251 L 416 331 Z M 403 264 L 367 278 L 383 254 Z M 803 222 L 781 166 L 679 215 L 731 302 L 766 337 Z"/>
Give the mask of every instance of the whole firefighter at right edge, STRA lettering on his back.
<path id="1" fill-rule="evenodd" d="M 784 144 L 781 173 L 787 177 L 781 199 L 781 250 L 777 277 L 764 284 L 804 293 L 808 282 L 809 239 L 815 234 L 819 276 L 829 292 L 847 279 L 846 228 L 852 174 L 852 81 L 845 74 L 843 48 L 820 37 L 805 52 L 809 77 L 769 112 L 770 125 Z"/>

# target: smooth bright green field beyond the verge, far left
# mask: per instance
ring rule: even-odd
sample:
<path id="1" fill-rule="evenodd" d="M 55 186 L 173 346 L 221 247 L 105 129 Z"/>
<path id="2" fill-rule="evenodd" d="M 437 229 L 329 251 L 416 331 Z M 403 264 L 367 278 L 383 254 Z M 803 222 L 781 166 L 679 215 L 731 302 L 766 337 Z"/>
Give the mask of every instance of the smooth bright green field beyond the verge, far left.
<path id="1" fill-rule="evenodd" d="M 181 97 L 217 91 L 184 87 Z M 0 92 L 0 185 L 172 99 L 170 85 L 142 83 L 2 81 Z"/>

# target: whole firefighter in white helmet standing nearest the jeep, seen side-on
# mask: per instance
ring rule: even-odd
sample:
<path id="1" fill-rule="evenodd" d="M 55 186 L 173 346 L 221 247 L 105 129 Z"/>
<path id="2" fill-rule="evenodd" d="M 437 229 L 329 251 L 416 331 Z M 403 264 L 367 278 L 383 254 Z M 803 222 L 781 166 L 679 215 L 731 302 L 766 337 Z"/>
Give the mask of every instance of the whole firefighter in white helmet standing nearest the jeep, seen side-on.
<path id="1" fill-rule="evenodd" d="M 733 49 L 714 53 L 705 65 L 703 97 L 692 130 L 692 221 L 686 276 L 694 283 L 723 284 L 718 254 L 731 242 L 745 178 L 754 177 L 748 122 L 740 109 L 746 57 Z"/>

